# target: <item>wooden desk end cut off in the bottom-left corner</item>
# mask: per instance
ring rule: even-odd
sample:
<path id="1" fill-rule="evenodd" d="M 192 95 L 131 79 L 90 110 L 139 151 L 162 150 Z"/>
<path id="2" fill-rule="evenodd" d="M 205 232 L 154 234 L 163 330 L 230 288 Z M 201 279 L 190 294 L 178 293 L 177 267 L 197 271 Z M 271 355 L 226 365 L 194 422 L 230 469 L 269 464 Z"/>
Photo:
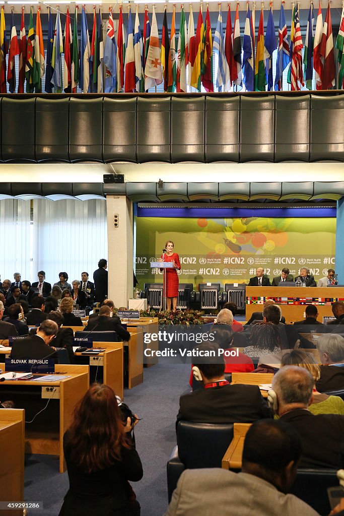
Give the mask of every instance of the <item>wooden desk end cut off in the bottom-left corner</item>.
<path id="1" fill-rule="evenodd" d="M 0 410 L 0 502 L 24 501 L 25 410 Z M 6 488 L 5 488 L 6 486 Z M 23 509 L 3 509 L 4 516 L 22 516 Z"/>

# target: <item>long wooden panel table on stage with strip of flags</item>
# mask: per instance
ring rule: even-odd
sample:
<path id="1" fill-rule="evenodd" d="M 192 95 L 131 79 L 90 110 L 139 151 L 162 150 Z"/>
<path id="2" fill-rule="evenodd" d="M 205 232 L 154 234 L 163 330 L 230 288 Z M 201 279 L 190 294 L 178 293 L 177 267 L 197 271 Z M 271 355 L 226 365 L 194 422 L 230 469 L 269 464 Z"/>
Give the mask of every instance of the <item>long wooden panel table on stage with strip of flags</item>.
<path id="1" fill-rule="evenodd" d="M 248 304 L 252 297 L 263 302 L 274 299 L 288 321 L 302 320 L 307 304 L 314 304 L 318 309 L 319 320 L 322 321 L 324 315 L 333 316 L 331 304 L 344 298 L 344 287 L 246 287 L 247 320 L 253 312 L 263 310 L 263 304 Z"/>

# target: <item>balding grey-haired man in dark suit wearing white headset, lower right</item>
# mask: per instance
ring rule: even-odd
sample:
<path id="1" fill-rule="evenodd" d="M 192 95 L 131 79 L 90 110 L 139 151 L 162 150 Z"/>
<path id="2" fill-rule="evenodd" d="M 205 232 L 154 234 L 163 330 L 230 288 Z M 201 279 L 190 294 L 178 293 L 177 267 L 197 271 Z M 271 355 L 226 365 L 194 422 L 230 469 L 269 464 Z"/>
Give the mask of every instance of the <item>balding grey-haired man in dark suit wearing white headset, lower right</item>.
<path id="1" fill-rule="evenodd" d="M 303 453 L 301 467 L 339 469 L 340 445 L 344 440 L 344 416 L 313 415 L 308 407 L 314 395 L 314 378 L 307 369 L 282 367 L 272 379 L 269 402 L 281 421 L 289 423 L 299 433 Z"/>

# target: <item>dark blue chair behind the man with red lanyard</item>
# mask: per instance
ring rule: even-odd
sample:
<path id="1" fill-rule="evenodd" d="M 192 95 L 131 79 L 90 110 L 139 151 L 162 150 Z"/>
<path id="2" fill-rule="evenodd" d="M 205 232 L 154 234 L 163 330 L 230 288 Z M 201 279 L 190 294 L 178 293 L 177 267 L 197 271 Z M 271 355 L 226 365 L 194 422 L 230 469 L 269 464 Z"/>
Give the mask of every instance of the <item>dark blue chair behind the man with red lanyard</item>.
<path id="1" fill-rule="evenodd" d="M 210 424 L 179 421 L 177 446 L 167 463 L 169 502 L 186 469 L 221 467 L 222 457 L 233 439 L 233 423 Z"/>

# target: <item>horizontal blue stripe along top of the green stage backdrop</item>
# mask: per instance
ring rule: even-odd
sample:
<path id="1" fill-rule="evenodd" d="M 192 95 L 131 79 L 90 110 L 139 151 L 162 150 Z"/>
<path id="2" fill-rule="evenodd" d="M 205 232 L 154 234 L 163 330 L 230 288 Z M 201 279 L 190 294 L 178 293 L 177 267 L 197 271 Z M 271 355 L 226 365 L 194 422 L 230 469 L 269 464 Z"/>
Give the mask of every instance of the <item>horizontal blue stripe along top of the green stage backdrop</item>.
<path id="1" fill-rule="evenodd" d="M 138 217 L 227 218 L 275 217 L 319 218 L 336 217 L 336 208 L 137 208 Z"/>

